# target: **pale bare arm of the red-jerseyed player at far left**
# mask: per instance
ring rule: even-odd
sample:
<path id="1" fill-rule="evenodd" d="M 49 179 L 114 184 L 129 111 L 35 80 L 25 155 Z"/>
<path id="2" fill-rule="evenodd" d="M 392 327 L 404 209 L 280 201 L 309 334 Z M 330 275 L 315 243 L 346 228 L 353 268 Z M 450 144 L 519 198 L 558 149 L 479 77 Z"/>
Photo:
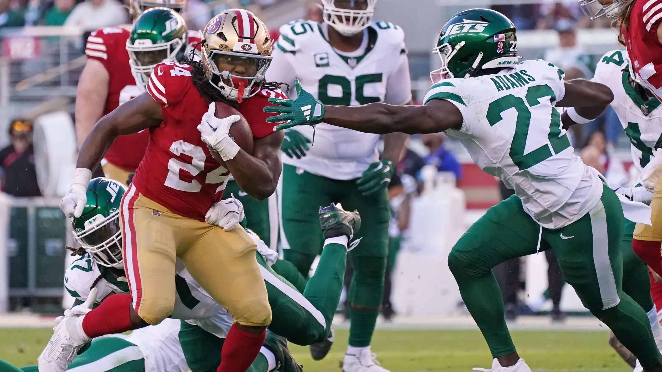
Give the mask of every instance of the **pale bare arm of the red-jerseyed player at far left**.
<path id="1" fill-rule="evenodd" d="M 87 134 L 103 115 L 108 97 L 109 75 L 97 60 L 87 60 L 78 80 L 75 103 L 75 129 L 78 148 L 83 146 Z"/>

